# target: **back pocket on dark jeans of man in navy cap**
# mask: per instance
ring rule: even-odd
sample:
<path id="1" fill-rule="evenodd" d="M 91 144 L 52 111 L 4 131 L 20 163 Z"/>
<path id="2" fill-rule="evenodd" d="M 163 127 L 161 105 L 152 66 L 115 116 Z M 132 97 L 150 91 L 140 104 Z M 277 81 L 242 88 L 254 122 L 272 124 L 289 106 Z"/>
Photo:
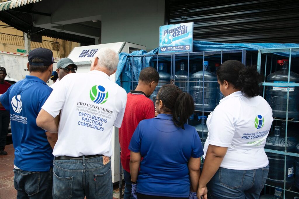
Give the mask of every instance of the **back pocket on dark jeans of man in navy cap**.
<path id="1" fill-rule="evenodd" d="M 28 196 L 32 196 L 39 192 L 40 172 L 21 171 L 21 176 L 25 183 L 25 192 Z"/>

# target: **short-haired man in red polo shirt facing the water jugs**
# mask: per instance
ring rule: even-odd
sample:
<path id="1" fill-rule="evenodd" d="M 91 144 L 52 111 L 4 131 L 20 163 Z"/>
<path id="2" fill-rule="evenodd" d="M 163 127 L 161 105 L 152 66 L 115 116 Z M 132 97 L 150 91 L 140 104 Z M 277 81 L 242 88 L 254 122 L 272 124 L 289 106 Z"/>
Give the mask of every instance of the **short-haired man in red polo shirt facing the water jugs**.
<path id="1" fill-rule="evenodd" d="M 125 178 L 124 199 L 135 199 L 131 196 L 130 150 L 128 149 L 132 135 L 139 122 L 155 117 L 155 107 L 151 95 L 159 81 L 159 73 L 153 67 L 141 70 L 138 86 L 127 94 L 127 104 L 123 123 L 119 129 L 120 159 Z"/>

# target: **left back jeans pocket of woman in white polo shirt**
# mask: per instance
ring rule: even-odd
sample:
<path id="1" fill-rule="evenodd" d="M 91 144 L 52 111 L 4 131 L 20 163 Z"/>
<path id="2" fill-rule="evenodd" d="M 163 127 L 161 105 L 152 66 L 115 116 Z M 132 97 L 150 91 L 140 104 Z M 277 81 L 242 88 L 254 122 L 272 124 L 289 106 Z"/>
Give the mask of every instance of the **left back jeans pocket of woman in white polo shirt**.
<path id="1" fill-rule="evenodd" d="M 230 189 L 237 189 L 243 185 L 246 170 L 233 170 L 219 167 L 220 184 Z"/>

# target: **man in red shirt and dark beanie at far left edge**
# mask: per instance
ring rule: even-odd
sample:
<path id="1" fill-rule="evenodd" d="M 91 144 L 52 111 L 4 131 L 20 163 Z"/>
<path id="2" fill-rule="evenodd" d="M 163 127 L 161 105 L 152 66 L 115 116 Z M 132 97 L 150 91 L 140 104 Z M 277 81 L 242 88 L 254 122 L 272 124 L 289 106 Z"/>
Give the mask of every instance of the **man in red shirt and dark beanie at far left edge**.
<path id="1" fill-rule="evenodd" d="M 0 94 L 2 95 L 10 87 L 10 83 L 5 81 L 7 73 L 4 67 L 0 67 Z M 8 133 L 8 126 L 10 122 L 9 110 L 4 107 L 0 108 L 0 155 L 7 155 L 4 151 L 6 145 L 6 137 Z"/>

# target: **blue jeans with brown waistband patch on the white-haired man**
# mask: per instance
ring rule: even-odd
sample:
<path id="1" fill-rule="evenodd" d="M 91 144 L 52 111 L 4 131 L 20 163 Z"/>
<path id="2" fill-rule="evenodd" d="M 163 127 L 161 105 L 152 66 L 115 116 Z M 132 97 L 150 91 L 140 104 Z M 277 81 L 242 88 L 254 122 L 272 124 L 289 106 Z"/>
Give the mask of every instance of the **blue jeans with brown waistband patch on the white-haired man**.
<path id="1" fill-rule="evenodd" d="M 103 157 L 83 160 L 55 160 L 53 169 L 53 198 L 112 199 L 111 162 Z"/>

